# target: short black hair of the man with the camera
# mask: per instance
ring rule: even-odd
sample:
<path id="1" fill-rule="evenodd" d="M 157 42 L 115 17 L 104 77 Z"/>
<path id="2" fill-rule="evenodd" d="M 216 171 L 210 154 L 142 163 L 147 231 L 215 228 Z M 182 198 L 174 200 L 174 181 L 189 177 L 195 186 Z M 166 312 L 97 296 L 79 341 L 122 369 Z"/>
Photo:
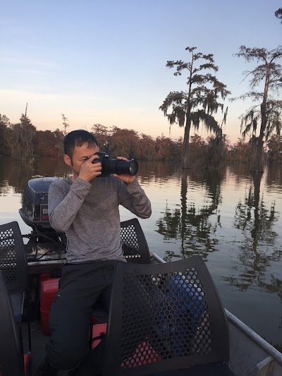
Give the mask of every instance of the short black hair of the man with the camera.
<path id="1" fill-rule="evenodd" d="M 97 138 L 90 132 L 78 129 L 78 131 L 72 131 L 66 135 L 63 139 L 63 150 L 68 157 L 73 157 L 73 150 L 75 146 L 82 146 L 87 142 L 88 147 L 99 146 Z"/>

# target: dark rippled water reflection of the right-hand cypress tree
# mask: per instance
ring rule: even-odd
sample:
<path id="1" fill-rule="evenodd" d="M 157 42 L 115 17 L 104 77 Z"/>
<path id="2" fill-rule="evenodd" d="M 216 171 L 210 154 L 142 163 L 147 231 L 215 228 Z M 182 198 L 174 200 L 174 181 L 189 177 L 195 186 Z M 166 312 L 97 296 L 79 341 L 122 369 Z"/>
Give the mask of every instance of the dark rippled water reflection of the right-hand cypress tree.
<path id="1" fill-rule="evenodd" d="M 246 290 L 251 285 L 257 285 L 263 291 L 276 293 L 282 301 L 282 281 L 267 274 L 271 270 L 271 262 L 281 260 L 282 252 L 275 248 L 278 234 L 273 230 L 278 220 L 275 211 L 275 200 L 269 208 L 264 197 L 260 197 L 262 174 L 253 174 L 253 184 L 235 208 L 235 227 L 243 231 L 245 241 L 240 244 L 238 259 L 242 272 L 238 277 L 227 277 L 233 286 Z M 269 247 L 270 245 L 270 247 Z M 239 264 L 239 263 L 238 263 Z M 269 281 L 267 281 L 269 279 Z"/>

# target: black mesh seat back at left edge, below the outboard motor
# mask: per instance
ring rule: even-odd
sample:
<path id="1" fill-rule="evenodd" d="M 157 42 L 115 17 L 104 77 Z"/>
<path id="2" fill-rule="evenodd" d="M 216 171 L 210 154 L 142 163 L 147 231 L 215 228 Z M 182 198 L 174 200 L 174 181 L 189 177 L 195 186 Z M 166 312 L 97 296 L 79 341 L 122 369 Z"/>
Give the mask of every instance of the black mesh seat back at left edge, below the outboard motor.
<path id="1" fill-rule="evenodd" d="M 27 262 L 18 222 L 0 225 L 0 269 L 9 291 L 27 289 Z"/>

